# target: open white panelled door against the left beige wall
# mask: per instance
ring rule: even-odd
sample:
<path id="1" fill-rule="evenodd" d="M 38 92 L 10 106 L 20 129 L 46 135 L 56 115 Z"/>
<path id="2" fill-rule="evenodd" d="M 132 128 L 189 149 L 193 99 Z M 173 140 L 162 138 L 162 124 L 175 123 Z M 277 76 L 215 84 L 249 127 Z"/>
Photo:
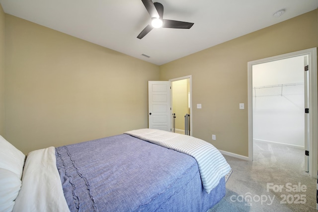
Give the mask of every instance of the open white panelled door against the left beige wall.
<path id="1" fill-rule="evenodd" d="M 170 81 L 148 81 L 148 120 L 150 129 L 171 131 Z"/>

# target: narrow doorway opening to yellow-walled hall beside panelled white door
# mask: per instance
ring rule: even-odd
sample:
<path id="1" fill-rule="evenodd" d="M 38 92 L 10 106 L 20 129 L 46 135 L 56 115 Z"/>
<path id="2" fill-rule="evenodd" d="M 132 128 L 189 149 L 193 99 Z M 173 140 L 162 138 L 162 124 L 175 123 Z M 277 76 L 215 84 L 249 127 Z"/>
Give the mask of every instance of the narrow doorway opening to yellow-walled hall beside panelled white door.
<path id="1" fill-rule="evenodd" d="M 191 75 L 169 81 L 171 81 L 171 126 L 175 133 L 192 135 Z"/>

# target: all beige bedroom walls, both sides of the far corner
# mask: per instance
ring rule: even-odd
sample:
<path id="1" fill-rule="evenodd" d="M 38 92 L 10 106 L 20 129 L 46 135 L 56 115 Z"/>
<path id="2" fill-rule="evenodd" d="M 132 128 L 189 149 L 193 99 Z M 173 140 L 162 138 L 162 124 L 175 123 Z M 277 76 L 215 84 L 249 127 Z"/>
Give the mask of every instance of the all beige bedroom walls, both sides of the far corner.
<path id="1" fill-rule="evenodd" d="M 147 81 L 192 75 L 193 136 L 247 156 L 247 62 L 317 47 L 318 10 L 160 67 L 8 14 L 5 38 L 0 133 L 24 153 L 147 128 Z"/>

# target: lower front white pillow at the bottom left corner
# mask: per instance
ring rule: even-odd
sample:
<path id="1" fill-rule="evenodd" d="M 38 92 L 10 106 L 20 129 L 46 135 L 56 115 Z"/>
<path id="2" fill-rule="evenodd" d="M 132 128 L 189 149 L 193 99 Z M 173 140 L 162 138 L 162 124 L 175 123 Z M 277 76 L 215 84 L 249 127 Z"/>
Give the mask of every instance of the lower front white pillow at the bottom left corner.
<path id="1" fill-rule="evenodd" d="M 13 172 L 0 168 L 0 211 L 12 212 L 14 200 L 19 194 L 21 180 Z"/>

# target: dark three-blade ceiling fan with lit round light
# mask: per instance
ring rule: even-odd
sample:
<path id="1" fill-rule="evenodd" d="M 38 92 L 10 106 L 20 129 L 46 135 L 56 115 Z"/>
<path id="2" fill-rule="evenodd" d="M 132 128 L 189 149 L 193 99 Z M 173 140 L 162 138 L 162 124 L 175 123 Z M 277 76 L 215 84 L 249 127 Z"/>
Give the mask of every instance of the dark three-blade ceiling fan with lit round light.
<path id="1" fill-rule="evenodd" d="M 163 19 L 163 5 L 159 2 L 153 3 L 152 0 L 142 0 L 148 13 L 152 18 L 152 24 L 147 25 L 143 31 L 137 36 L 142 39 L 153 28 L 174 28 L 174 29 L 190 29 L 194 23 Z"/>

